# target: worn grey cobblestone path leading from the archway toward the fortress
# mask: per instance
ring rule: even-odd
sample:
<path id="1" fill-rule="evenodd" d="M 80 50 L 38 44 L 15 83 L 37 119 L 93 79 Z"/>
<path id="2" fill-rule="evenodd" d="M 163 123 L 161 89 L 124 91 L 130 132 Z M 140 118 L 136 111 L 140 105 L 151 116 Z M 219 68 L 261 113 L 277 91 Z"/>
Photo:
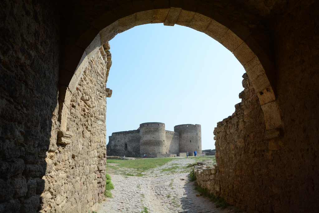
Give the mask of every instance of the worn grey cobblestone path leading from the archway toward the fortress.
<path id="1" fill-rule="evenodd" d="M 189 182 L 189 170 L 186 171 L 184 167 L 192 163 L 195 161 L 191 157 L 177 157 L 163 166 L 144 172 L 145 176 L 142 177 L 110 174 L 114 184 L 111 191 L 113 198 L 106 198 L 100 203 L 98 213 L 145 210 L 154 213 L 232 212 L 230 209 L 216 209 L 215 204 L 206 197 L 196 196 L 199 193 L 194 183 Z M 165 171 L 171 167 L 175 167 L 175 171 Z"/>

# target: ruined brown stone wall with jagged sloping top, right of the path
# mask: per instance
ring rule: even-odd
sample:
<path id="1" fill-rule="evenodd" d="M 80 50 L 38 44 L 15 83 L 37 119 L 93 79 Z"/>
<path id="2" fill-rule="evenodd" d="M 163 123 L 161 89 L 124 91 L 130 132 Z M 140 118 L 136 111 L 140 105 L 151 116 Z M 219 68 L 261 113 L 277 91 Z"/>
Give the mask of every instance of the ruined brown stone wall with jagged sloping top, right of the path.
<path id="1" fill-rule="evenodd" d="M 271 212 L 273 204 L 269 197 L 278 188 L 270 175 L 274 165 L 266 149 L 263 111 L 246 73 L 243 78 L 241 103 L 214 130 L 218 173 L 209 179 L 210 190 L 249 212 Z"/>

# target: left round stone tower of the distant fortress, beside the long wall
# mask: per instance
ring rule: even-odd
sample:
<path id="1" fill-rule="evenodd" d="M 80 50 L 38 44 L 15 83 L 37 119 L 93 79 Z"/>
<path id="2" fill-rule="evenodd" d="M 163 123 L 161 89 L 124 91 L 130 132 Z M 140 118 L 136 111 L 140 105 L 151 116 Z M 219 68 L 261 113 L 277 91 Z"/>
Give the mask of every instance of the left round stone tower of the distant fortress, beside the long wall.
<path id="1" fill-rule="evenodd" d="M 140 124 L 140 155 L 152 156 L 152 154 L 166 153 L 165 148 L 165 124 L 150 122 Z"/>

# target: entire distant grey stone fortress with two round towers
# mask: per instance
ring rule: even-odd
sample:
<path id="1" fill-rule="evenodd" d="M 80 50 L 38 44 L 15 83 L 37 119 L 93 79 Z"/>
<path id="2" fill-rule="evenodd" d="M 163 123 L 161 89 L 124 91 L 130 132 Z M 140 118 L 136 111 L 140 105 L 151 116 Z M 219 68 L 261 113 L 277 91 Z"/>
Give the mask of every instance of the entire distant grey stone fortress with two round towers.
<path id="1" fill-rule="evenodd" d="M 108 156 L 169 157 L 192 155 L 202 151 L 202 133 L 199 124 L 174 126 L 174 132 L 165 130 L 164 123 L 140 124 L 137 130 L 112 133 L 107 145 Z"/>

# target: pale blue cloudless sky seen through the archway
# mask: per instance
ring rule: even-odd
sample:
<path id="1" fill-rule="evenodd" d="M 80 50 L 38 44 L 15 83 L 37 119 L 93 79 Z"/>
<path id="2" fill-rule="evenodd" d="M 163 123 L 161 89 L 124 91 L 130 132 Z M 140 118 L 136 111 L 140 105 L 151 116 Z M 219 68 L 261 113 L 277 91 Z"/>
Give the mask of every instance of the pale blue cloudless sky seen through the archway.
<path id="1" fill-rule="evenodd" d="M 214 149 L 217 122 L 234 113 L 243 66 L 224 46 L 189 27 L 147 24 L 110 41 L 106 128 L 135 130 L 145 122 L 202 126 L 202 149 Z"/>

